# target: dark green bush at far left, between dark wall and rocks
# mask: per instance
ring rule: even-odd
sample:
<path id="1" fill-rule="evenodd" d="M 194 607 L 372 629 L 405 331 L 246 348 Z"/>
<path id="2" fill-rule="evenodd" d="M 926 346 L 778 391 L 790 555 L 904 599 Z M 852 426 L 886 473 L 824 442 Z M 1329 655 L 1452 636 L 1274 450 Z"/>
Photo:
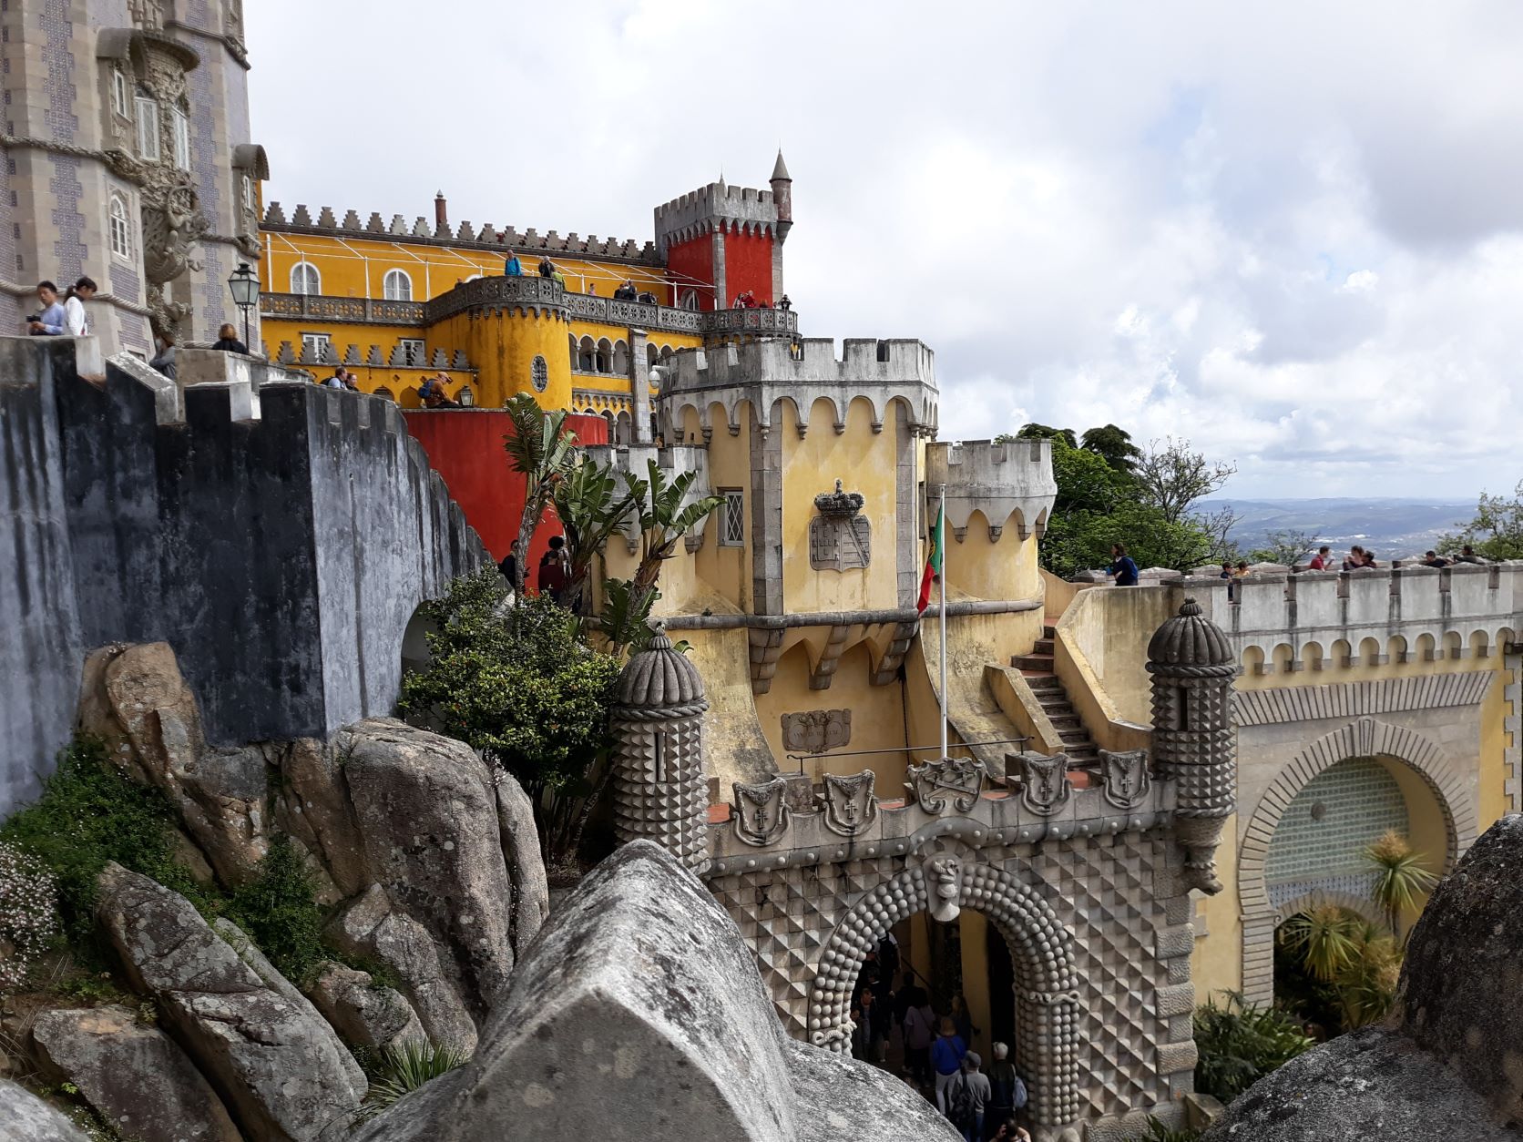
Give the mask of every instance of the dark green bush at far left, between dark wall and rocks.
<path id="1" fill-rule="evenodd" d="M 111 764 L 94 737 L 76 737 L 35 804 L 0 825 L 0 841 L 32 853 L 58 879 L 70 943 L 94 943 L 96 877 L 108 862 L 152 877 L 203 903 L 190 872 L 175 862 L 175 810 L 161 792 Z"/>

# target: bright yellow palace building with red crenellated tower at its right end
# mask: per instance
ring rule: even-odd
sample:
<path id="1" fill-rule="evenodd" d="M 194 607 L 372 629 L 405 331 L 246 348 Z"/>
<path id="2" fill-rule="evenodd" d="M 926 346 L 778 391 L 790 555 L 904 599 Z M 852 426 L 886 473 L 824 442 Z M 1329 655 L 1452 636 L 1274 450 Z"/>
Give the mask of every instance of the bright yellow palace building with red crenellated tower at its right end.
<path id="1" fill-rule="evenodd" d="M 656 207 L 644 244 L 454 225 L 443 193 L 433 225 L 332 207 L 314 218 L 306 206 L 288 218 L 271 203 L 257 340 L 315 378 L 344 365 L 364 391 L 404 407 L 443 370 L 461 404 L 496 408 L 533 393 L 545 408 L 606 417 L 611 439 L 627 442 L 632 419 L 649 414 L 659 361 L 798 332 L 783 294 L 790 225 L 781 154 L 769 190 L 710 183 Z"/>

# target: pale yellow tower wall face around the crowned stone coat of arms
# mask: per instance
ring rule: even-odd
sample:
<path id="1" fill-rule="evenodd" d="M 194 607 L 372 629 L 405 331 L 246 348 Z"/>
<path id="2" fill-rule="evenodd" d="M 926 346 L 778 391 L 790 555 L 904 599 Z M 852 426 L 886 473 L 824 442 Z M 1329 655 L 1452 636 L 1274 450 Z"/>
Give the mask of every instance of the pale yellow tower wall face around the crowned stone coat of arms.
<path id="1" fill-rule="evenodd" d="M 903 416 L 894 405 L 894 416 Z M 836 434 L 835 405 L 816 400 L 809 435 L 798 439 L 798 417 L 789 402 L 774 419 L 783 434 L 783 606 L 786 611 L 870 611 L 899 606 L 894 566 L 894 451 L 897 432 L 874 432 L 873 405 L 856 399 L 847 408 L 847 431 Z M 717 431 L 716 431 L 717 435 Z M 726 434 L 728 435 L 728 434 Z M 835 490 L 860 492 L 862 515 L 873 525 L 873 560 L 856 571 L 815 571 L 809 565 L 809 524 L 819 513 L 815 496 Z M 752 539 L 754 542 L 754 539 Z"/>

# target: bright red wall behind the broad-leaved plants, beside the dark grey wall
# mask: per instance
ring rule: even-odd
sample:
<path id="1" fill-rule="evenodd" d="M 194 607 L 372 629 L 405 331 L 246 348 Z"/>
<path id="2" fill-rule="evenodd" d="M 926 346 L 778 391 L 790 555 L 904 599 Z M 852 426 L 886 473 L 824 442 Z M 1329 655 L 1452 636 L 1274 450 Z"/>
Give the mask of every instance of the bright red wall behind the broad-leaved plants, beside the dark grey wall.
<path id="1" fill-rule="evenodd" d="M 513 431 L 509 414 L 498 408 L 408 408 L 402 416 L 407 431 L 428 452 L 428 463 L 466 513 L 466 522 L 481 536 L 492 559 L 503 560 L 518 539 L 518 518 L 524 512 L 524 477 L 513 471 L 503 449 L 503 437 Z M 608 422 L 600 416 L 568 416 L 567 426 L 577 443 L 608 443 Z M 554 509 L 547 509 L 528 545 L 530 568 L 539 566 L 539 556 L 554 534 L 560 534 L 560 524 Z"/>

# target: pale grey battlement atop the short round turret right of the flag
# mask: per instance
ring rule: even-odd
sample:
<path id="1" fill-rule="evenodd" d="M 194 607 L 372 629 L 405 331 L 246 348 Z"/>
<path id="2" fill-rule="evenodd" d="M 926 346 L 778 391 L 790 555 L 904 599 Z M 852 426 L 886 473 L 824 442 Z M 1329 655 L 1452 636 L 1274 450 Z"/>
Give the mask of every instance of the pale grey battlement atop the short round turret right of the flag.
<path id="1" fill-rule="evenodd" d="M 975 512 L 990 539 L 1014 516 L 1020 539 L 1040 538 L 1057 499 L 1051 440 L 967 440 L 926 446 L 926 496 L 934 506 L 946 487 L 946 522 L 963 541 Z M 928 512 L 932 518 L 934 512 Z"/>

